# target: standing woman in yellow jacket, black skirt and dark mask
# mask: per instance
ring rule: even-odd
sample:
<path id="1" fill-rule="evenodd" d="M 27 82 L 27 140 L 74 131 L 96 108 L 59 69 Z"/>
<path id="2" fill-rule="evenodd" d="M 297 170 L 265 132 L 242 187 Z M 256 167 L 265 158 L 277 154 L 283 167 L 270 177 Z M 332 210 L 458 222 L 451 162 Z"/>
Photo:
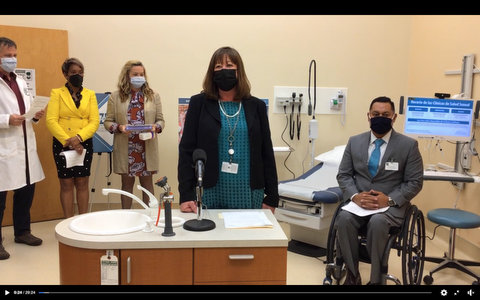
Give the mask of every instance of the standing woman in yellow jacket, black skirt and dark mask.
<path id="1" fill-rule="evenodd" d="M 53 158 L 60 180 L 60 201 L 66 218 L 74 215 L 74 189 L 78 212 L 88 211 L 88 178 L 93 157 L 92 137 L 98 129 L 100 118 L 95 92 L 84 88 L 83 64 L 68 58 L 62 65 L 65 86 L 52 89 L 47 109 L 47 127 L 53 135 Z M 85 158 L 83 166 L 66 167 L 63 151 L 75 150 Z"/>

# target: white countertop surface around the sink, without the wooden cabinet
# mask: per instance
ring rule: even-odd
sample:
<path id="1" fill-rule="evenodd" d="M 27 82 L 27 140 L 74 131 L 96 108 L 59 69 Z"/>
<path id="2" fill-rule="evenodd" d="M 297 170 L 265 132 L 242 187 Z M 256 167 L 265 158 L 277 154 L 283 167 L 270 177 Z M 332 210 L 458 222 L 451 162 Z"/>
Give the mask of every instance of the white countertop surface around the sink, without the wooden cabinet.
<path id="1" fill-rule="evenodd" d="M 143 209 L 134 211 L 142 212 Z M 69 224 L 79 216 L 66 219 L 55 227 L 57 240 L 65 245 L 84 249 L 159 249 L 159 248 L 214 248 L 214 247 L 287 247 L 288 238 L 269 209 L 263 211 L 272 222 L 272 228 L 227 229 L 222 212 L 242 210 L 203 210 L 204 219 L 215 222 L 216 227 L 209 231 L 188 231 L 182 226 L 173 227 L 174 236 L 164 237 L 163 227 L 155 227 L 153 232 L 136 231 L 118 235 L 80 234 L 70 229 Z M 173 217 L 185 220 L 196 219 L 193 213 L 172 210 Z"/>

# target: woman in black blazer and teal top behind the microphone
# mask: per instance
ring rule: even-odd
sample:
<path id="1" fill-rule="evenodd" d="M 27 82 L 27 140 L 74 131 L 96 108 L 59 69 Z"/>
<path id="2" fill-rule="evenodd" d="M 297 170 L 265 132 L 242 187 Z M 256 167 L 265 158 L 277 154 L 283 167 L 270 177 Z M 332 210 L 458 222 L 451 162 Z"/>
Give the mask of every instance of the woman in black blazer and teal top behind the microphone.
<path id="1" fill-rule="evenodd" d="M 180 209 L 196 212 L 194 150 L 207 155 L 203 204 L 207 208 L 278 206 L 278 178 L 265 103 L 250 95 L 239 53 L 212 56 L 203 91 L 190 98 L 179 145 Z"/>

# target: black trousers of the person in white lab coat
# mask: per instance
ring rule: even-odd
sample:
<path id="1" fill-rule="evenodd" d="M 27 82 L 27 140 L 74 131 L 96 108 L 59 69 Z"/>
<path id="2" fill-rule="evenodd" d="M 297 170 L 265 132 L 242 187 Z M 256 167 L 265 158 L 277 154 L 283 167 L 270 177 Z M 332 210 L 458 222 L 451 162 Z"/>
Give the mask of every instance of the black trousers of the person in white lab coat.
<path id="1" fill-rule="evenodd" d="M 30 208 L 32 207 L 35 183 L 13 191 L 13 231 L 15 236 L 30 232 Z M 3 221 L 7 191 L 0 192 L 0 225 Z M 0 227 L 0 243 L 2 230 Z"/>

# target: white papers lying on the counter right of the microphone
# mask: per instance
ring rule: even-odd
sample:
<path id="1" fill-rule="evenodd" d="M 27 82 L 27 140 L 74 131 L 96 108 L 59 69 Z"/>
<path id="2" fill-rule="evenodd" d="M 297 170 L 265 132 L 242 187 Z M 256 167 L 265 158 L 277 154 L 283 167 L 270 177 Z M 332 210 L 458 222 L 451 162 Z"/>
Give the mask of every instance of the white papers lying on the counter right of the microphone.
<path id="1" fill-rule="evenodd" d="M 225 228 L 271 228 L 272 222 L 263 211 L 222 212 Z"/>

